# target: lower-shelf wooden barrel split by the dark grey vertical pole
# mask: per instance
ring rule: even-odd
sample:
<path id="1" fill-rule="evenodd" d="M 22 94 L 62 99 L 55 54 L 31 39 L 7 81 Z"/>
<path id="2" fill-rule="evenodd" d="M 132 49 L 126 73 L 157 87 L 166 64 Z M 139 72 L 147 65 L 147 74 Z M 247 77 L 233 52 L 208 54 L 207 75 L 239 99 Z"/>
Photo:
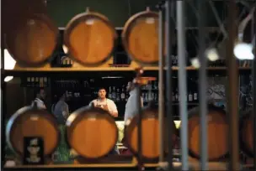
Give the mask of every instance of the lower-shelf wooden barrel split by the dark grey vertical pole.
<path id="1" fill-rule="evenodd" d="M 208 158 L 216 161 L 227 156 L 228 124 L 226 111 L 220 107 L 208 106 Z M 195 107 L 189 111 L 189 155 L 200 158 L 200 109 Z"/>

